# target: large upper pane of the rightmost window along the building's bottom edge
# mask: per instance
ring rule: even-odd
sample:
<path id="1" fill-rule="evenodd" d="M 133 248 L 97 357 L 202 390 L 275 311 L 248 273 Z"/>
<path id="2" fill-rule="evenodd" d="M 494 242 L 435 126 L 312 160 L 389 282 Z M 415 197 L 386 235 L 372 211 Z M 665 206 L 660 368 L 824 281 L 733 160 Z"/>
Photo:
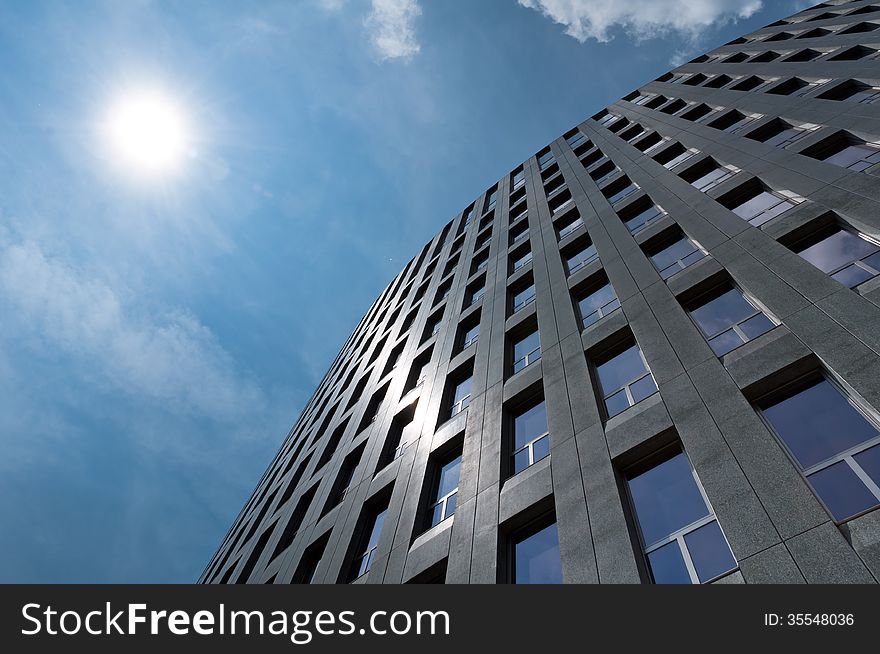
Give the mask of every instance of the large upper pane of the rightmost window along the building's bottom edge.
<path id="1" fill-rule="evenodd" d="M 629 488 L 647 546 L 709 515 L 683 452 L 633 477 Z"/>

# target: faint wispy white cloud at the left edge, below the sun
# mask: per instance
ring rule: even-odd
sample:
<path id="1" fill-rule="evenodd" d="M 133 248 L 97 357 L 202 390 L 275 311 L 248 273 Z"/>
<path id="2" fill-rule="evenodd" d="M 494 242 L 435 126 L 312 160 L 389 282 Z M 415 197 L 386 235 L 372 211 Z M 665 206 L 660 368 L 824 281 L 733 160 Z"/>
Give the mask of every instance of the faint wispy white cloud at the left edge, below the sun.
<path id="1" fill-rule="evenodd" d="M 172 410 L 240 417 L 264 402 L 241 380 L 213 333 L 186 311 L 138 310 L 125 291 L 89 277 L 33 241 L 0 233 L 0 311 L 21 341 L 76 357 L 81 378 L 94 378 Z"/>

